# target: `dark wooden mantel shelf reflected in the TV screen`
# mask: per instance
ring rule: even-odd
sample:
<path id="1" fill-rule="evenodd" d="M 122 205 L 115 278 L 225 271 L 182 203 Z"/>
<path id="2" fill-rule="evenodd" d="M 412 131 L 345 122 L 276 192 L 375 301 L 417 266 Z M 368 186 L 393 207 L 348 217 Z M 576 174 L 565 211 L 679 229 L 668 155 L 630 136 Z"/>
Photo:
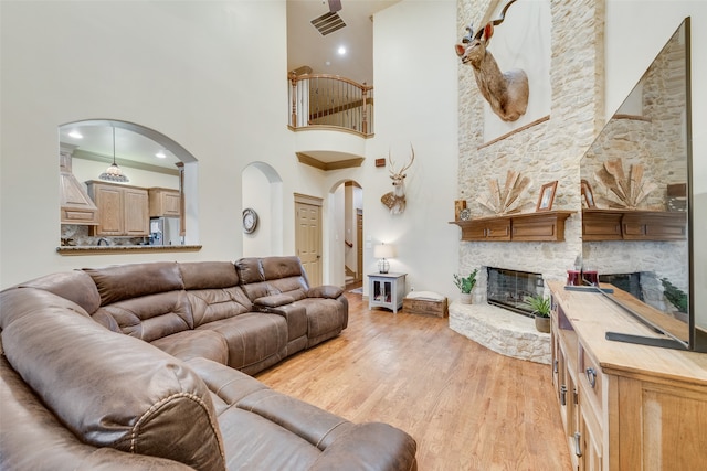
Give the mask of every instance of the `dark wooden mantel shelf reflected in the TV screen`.
<path id="1" fill-rule="evenodd" d="M 687 214 L 671 211 L 582 210 L 582 239 L 685 240 Z"/>

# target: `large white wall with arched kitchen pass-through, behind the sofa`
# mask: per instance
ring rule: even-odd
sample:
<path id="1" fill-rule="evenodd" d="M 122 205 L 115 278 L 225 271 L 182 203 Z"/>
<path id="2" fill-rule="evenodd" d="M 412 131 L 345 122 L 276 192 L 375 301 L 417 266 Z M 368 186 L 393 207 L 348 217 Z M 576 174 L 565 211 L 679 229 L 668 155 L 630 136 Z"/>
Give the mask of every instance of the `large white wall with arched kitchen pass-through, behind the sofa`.
<path id="1" fill-rule="evenodd" d="M 0 286 L 146 259 L 235 259 L 241 172 L 252 161 L 287 175 L 283 227 L 294 225 L 294 192 L 323 196 L 321 175 L 297 163 L 286 129 L 284 1 L 2 1 L 0 8 Z M 201 251 L 55 253 L 57 127 L 91 118 L 155 129 L 199 160 L 199 239 L 191 242 Z M 285 237 L 283 250 L 292 253 L 294 237 Z"/>

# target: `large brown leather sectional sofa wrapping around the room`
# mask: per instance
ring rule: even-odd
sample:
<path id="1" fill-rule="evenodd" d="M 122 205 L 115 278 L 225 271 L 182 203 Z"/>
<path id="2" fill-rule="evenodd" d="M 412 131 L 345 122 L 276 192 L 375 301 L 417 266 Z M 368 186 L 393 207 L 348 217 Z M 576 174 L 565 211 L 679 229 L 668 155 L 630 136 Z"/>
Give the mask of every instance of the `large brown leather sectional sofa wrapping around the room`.
<path id="1" fill-rule="evenodd" d="M 0 469 L 414 470 L 414 440 L 249 376 L 338 335 L 296 257 L 149 263 L 0 292 Z"/>

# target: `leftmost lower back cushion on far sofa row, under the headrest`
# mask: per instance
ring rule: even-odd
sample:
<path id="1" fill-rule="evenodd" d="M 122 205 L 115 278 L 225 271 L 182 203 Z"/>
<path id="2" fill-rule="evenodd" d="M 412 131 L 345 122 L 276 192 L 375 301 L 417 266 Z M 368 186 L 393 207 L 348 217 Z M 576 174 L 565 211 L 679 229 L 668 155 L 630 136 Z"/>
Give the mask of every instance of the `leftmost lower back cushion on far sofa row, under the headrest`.
<path id="1" fill-rule="evenodd" d="M 146 342 L 194 327 L 186 291 L 158 292 L 125 299 L 98 308 L 93 317 L 109 329 L 110 324 L 106 325 L 106 318 L 113 319 L 120 332 Z"/>

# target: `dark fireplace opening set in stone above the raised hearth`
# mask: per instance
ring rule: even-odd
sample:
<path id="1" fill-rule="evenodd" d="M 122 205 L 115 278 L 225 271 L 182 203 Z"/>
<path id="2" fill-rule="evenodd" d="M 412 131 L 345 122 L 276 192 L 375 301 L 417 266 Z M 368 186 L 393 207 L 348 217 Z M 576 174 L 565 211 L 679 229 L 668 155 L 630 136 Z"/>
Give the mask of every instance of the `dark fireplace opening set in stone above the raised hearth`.
<path id="1" fill-rule="evenodd" d="M 489 304 L 532 317 L 532 309 L 525 300 L 530 296 L 542 295 L 542 275 L 495 267 L 488 267 L 487 274 L 486 297 Z"/>

